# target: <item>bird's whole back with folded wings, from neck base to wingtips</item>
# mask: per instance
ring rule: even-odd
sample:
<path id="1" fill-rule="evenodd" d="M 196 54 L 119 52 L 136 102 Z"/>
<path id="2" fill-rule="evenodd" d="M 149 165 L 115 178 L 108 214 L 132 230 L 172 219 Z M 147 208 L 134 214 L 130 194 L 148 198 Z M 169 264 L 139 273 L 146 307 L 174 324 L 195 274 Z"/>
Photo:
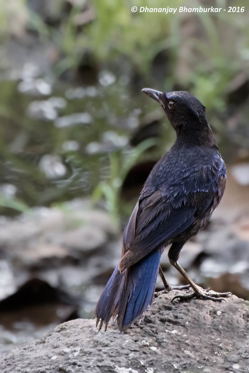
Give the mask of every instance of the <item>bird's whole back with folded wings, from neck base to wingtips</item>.
<path id="1" fill-rule="evenodd" d="M 154 166 L 124 233 L 123 270 L 208 223 L 225 189 L 217 147 L 172 147 Z"/>

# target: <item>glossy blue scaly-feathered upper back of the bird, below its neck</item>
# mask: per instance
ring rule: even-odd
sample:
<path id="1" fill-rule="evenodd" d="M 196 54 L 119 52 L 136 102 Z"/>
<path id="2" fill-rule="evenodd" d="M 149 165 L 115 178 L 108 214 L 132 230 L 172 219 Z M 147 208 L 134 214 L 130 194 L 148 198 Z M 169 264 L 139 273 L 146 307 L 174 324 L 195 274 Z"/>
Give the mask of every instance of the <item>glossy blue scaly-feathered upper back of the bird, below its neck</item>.
<path id="1" fill-rule="evenodd" d="M 225 163 L 217 146 L 178 147 L 177 142 L 153 167 L 139 200 L 157 190 L 177 205 L 184 196 L 198 192 L 215 192 L 226 177 Z"/>

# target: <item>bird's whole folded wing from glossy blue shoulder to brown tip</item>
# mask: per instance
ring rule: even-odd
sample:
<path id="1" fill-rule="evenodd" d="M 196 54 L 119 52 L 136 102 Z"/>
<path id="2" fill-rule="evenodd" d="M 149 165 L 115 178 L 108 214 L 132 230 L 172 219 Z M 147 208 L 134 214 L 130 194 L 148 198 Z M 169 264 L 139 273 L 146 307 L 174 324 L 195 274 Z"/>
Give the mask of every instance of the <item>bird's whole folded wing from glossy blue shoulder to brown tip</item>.
<path id="1" fill-rule="evenodd" d="M 158 190 L 145 187 L 124 232 L 118 269 L 123 272 L 151 251 L 171 244 L 197 220 L 208 222 L 224 188 L 225 165 L 219 155 L 211 165 L 196 166 L 177 183 Z"/>

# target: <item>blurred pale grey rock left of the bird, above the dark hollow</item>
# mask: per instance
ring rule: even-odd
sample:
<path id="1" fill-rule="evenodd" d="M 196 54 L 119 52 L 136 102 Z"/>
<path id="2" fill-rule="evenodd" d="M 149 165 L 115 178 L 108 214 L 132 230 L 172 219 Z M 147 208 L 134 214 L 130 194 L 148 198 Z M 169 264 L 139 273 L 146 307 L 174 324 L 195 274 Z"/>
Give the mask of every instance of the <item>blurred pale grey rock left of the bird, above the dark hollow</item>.
<path id="1" fill-rule="evenodd" d="M 1 217 L 0 301 L 33 277 L 71 292 L 74 285 L 92 283 L 100 269 L 115 268 L 122 247 L 118 240 L 109 214 L 87 199 Z"/>

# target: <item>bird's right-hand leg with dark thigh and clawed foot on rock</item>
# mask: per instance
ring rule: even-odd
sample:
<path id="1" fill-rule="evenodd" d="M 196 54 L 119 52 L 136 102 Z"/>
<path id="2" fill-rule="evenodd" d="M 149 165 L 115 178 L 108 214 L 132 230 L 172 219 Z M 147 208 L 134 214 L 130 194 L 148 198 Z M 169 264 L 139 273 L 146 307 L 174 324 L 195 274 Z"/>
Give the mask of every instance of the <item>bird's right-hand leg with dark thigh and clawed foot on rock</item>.
<path id="1" fill-rule="evenodd" d="M 188 294 L 188 295 L 177 295 L 176 297 L 172 299 L 172 301 L 174 299 L 179 299 L 180 301 L 184 301 L 184 300 L 188 300 L 194 297 L 202 298 L 202 299 L 209 299 L 209 300 L 216 301 L 216 302 L 221 302 L 222 300 L 225 301 L 224 298 L 229 297 L 229 295 L 232 295 L 232 293 L 230 292 L 218 293 L 216 291 L 202 289 L 200 286 L 196 285 L 190 279 L 190 277 L 187 275 L 184 269 L 180 266 L 180 264 L 178 264 L 177 260 L 178 260 L 179 253 L 184 243 L 185 242 L 174 242 L 171 245 L 171 248 L 169 249 L 168 257 L 169 257 L 169 261 L 172 264 L 172 266 L 174 266 L 178 270 L 178 272 L 181 273 L 181 275 L 184 277 L 187 283 L 189 283 L 189 285 L 192 287 L 194 293 Z"/>

